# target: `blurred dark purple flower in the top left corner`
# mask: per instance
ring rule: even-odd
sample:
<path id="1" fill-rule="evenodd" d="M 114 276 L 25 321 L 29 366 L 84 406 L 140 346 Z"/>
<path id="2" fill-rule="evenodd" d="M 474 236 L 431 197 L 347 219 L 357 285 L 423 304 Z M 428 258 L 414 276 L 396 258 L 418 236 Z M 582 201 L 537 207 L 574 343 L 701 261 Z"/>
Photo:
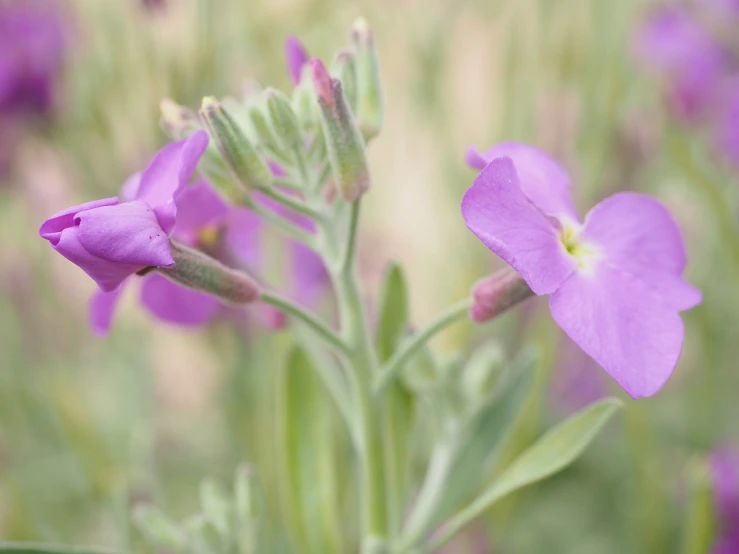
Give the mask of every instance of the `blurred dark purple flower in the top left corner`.
<path id="1" fill-rule="evenodd" d="M 0 111 L 47 112 L 64 47 L 61 17 L 50 2 L 0 4 Z"/>

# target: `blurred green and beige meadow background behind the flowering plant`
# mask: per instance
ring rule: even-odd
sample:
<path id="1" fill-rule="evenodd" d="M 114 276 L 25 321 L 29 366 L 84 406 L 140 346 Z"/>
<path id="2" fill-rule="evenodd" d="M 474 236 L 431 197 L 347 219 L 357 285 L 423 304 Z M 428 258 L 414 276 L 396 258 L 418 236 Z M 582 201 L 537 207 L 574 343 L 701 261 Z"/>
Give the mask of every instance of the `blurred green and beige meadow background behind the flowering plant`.
<path id="1" fill-rule="evenodd" d="M 675 69 L 681 45 L 696 48 L 654 22 L 664 5 L 639 0 L 0 1 L 0 537 L 146 549 L 132 506 L 183 518 L 198 509 L 203 477 L 225 483 L 244 461 L 281 529 L 275 368 L 289 334 L 167 326 L 129 294 L 98 339 L 87 324 L 94 283 L 37 229 L 116 195 L 148 163 L 166 143 L 162 98 L 195 108 L 250 80 L 289 90 L 285 39 L 330 60 L 361 15 L 386 105 L 360 239 L 368 302 L 396 260 L 420 326 L 500 265 L 459 203 L 475 176 L 467 146 L 502 140 L 561 160 L 583 214 L 619 190 L 668 204 L 704 292 L 684 314 L 680 365 L 651 399 L 625 398 L 569 344 L 546 300 L 433 344 L 441 358 L 489 341 L 506 356 L 537 348 L 524 442 L 591 400 L 626 401 L 577 464 L 496 507 L 449 552 L 679 552 L 687 468 L 739 444 L 739 44 L 722 32 L 736 30 L 739 6 L 685 5 L 729 60 L 709 100 L 690 88 L 708 77 L 686 84 Z M 349 450 L 337 456 L 346 473 Z"/>

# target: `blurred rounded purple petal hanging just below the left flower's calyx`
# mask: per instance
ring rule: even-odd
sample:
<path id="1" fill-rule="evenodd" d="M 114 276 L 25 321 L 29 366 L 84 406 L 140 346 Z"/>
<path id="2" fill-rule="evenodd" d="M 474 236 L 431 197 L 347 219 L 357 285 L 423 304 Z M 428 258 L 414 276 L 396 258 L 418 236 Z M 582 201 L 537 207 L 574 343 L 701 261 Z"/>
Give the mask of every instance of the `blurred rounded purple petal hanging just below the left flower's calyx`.
<path id="1" fill-rule="evenodd" d="M 214 297 L 150 273 L 141 284 L 141 302 L 158 319 L 195 327 L 210 322 L 223 308 Z"/>

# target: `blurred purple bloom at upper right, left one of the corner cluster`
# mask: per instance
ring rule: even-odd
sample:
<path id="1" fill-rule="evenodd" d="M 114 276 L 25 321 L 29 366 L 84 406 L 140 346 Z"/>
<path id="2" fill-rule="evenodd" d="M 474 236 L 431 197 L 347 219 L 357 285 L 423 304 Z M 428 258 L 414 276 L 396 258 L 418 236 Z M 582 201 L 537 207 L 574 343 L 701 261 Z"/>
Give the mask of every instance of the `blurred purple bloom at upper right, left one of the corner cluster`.
<path id="1" fill-rule="evenodd" d="M 693 118 L 710 108 L 727 70 L 724 49 L 685 8 L 655 10 L 637 36 L 637 55 L 668 83 L 674 111 Z"/>

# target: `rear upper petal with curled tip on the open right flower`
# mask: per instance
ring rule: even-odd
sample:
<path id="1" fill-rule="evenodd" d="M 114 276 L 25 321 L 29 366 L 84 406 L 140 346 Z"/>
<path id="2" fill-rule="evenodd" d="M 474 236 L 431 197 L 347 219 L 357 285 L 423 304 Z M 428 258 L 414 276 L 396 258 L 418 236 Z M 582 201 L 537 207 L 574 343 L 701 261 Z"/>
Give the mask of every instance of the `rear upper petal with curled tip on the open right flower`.
<path id="1" fill-rule="evenodd" d="M 503 157 L 513 160 L 521 190 L 544 214 L 579 220 L 570 198 L 570 178 L 557 160 L 518 142 L 501 142 L 483 156 L 488 161 Z"/>

